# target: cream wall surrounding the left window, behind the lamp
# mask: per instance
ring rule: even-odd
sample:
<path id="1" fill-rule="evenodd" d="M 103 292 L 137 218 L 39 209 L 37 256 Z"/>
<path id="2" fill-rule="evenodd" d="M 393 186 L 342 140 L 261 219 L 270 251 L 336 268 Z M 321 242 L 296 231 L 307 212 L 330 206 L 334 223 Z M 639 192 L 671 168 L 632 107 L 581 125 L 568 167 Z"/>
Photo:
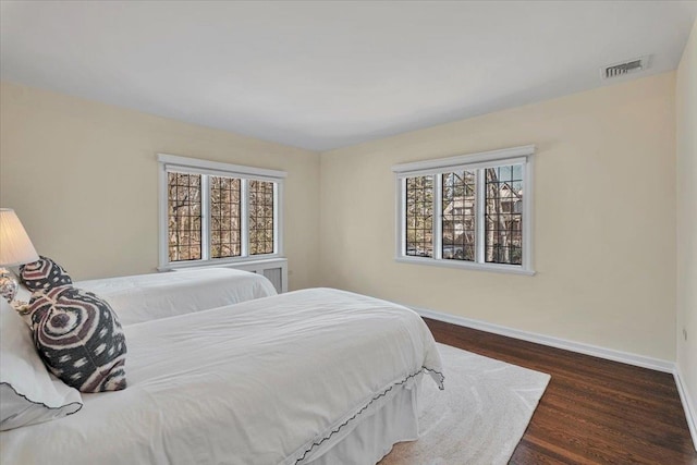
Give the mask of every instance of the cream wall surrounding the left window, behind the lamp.
<path id="1" fill-rule="evenodd" d="M 0 203 L 74 278 L 155 270 L 167 152 L 288 171 L 290 287 L 316 282 L 317 154 L 9 83 L 0 111 Z"/>

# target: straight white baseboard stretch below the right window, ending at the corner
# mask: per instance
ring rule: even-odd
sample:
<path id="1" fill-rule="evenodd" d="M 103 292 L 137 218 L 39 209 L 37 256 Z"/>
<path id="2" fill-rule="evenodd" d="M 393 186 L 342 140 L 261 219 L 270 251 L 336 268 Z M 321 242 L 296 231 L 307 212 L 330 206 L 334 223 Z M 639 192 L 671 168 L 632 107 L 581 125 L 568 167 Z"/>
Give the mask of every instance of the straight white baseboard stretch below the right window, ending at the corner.
<path id="1" fill-rule="evenodd" d="M 647 357 L 644 355 L 631 354 L 628 352 L 614 351 L 612 348 L 600 347 L 591 344 L 584 344 L 582 342 L 568 341 L 561 338 L 553 338 L 545 334 L 538 334 L 528 331 L 522 331 L 513 328 L 508 328 L 499 325 L 489 323 L 486 321 L 474 320 L 456 315 L 443 314 L 440 311 L 433 311 L 426 308 L 418 308 L 411 305 L 407 307 L 423 317 L 431 318 L 435 320 L 444 321 L 466 328 L 478 329 L 481 331 L 492 332 L 494 334 L 505 335 L 509 338 L 521 339 L 523 341 L 535 342 L 537 344 L 548 345 L 550 347 L 563 348 L 565 351 L 577 352 L 579 354 L 591 355 L 594 357 L 606 358 L 613 362 L 620 362 L 623 364 L 634 365 L 641 368 L 650 368 L 652 370 L 663 372 L 674 372 L 675 364 L 659 358 Z"/>

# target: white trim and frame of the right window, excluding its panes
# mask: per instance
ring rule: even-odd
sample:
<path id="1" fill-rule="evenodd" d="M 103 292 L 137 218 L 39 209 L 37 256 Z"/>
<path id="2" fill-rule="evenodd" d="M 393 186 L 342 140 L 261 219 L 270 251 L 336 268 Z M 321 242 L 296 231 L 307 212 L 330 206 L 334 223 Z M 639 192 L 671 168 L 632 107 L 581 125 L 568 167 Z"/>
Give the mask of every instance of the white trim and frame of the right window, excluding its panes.
<path id="1" fill-rule="evenodd" d="M 503 273 L 534 276 L 533 268 L 533 187 L 535 185 L 534 157 L 535 146 L 526 145 L 521 147 L 504 148 L 500 150 L 481 151 L 476 154 L 460 155 L 455 157 L 439 158 L 433 160 L 415 161 L 400 163 L 392 167 L 395 176 L 395 261 L 406 264 L 430 265 L 445 268 L 464 268 L 473 270 L 485 270 Z M 523 257 L 522 265 L 487 264 L 484 261 L 484 208 L 482 201 L 477 201 L 477 248 L 476 261 L 445 260 L 442 259 L 442 185 L 440 174 L 452 171 L 480 170 L 503 164 L 523 164 L 523 185 L 525 195 L 523 197 Z M 423 175 L 433 175 L 433 257 L 413 257 L 405 255 L 405 215 L 404 206 L 406 201 L 406 179 Z M 484 183 L 481 176 L 477 176 L 477 198 L 484 198 Z"/>

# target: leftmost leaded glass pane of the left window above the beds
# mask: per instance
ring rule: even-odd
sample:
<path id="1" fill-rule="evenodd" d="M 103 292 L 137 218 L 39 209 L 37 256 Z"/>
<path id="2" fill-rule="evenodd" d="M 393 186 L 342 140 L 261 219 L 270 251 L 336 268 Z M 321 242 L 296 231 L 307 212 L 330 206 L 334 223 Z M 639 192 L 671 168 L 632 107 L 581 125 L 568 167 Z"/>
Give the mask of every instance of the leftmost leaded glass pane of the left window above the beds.
<path id="1" fill-rule="evenodd" d="M 200 260 L 200 174 L 167 176 L 169 259 Z"/>

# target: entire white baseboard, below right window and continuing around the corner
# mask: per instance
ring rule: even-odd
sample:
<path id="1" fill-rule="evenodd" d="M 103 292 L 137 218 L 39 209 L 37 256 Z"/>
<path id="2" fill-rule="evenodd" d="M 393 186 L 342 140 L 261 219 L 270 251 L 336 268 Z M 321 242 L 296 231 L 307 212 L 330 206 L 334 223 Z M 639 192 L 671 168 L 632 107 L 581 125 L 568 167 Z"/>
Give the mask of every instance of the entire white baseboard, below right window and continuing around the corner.
<path id="1" fill-rule="evenodd" d="M 675 378 L 675 386 L 677 387 L 677 392 L 683 404 L 683 409 L 685 411 L 685 417 L 687 419 L 687 427 L 689 428 L 689 433 L 693 439 L 693 445 L 695 446 L 695 450 L 697 450 L 697 411 L 692 405 L 689 395 L 687 394 L 687 388 L 683 383 L 680 369 L 673 362 L 632 354 L 628 352 L 615 351 L 612 348 L 600 347 L 582 342 L 568 341 L 561 338 L 538 334 L 535 332 L 522 331 L 500 325 L 489 323 L 486 321 L 474 320 L 456 315 L 443 314 L 440 311 L 428 310 L 426 308 L 414 307 L 411 305 L 405 306 L 426 318 L 431 318 L 465 328 L 473 328 L 481 331 L 492 332 L 494 334 L 505 335 L 509 338 L 521 339 L 523 341 L 548 345 L 550 347 L 563 348 L 565 351 L 591 355 L 594 357 L 606 358 L 608 360 L 634 365 L 641 368 L 649 368 L 657 371 L 672 374 L 673 378 Z"/>

